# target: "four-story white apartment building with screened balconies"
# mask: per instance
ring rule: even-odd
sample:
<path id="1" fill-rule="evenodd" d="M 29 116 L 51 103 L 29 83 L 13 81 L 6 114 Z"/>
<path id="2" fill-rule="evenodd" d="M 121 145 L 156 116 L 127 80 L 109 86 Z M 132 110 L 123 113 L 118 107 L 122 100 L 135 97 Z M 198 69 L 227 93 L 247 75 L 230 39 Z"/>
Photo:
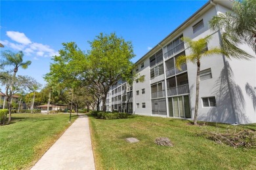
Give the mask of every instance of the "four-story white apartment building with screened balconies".
<path id="1" fill-rule="evenodd" d="M 221 31 L 212 31 L 209 20 L 218 13 L 232 10 L 234 1 L 208 1 L 165 39 L 156 44 L 135 64 L 144 82 L 133 89 L 118 82 L 108 95 L 108 110 L 120 110 L 148 116 L 194 118 L 196 101 L 196 65 L 184 63 L 181 70 L 175 60 L 189 54 L 181 38 L 193 40 L 211 35 L 205 50 L 220 46 Z M 255 56 L 249 46 L 241 48 Z M 249 88 L 256 87 L 256 59 L 227 59 L 224 55 L 202 58 L 198 120 L 247 124 L 256 122 L 256 105 Z M 124 91 L 123 91 L 124 90 Z M 130 99 L 128 99 L 128 93 Z M 126 98 L 125 98 L 126 96 Z M 129 103 L 127 102 L 129 101 Z"/>

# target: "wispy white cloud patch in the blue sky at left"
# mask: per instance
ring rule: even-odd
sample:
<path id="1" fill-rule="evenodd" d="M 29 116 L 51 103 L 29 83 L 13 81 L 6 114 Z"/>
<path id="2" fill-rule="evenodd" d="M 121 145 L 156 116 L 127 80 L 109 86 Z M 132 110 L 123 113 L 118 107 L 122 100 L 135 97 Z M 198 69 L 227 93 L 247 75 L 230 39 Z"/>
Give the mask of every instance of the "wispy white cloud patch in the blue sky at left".
<path id="1" fill-rule="evenodd" d="M 5 40 L 0 41 L 1 44 L 14 50 L 22 50 L 28 56 L 35 56 L 34 59 L 38 59 L 37 57 L 51 57 L 55 55 L 58 56 L 58 52 L 51 48 L 51 46 L 38 42 L 32 42 L 30 39 L 28 39 L 28 37 L 26 37 L 24 33 L 7 31 L 7 36 L 10 37 L 13 41 L 19 43 L 12 43 Z"/>

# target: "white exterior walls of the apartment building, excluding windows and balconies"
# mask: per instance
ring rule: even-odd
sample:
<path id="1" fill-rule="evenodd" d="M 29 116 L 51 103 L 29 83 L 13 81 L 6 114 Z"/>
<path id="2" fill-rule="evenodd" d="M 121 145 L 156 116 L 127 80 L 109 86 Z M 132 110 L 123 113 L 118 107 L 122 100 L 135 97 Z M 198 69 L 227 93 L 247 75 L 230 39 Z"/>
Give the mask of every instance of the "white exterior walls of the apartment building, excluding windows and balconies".
<path id="1" fill-rule="evenodd" d="M 213 3 L 221 3 L 223 5 L 227 5 L 228 7 L 228 3 L 230 2 L 213 1 Z M 203 12 L 205 9 L 207 10 Z M 183 37 L 190 37 L 193 40 L 198 40 L 206 35 L 212 35 L 211 41 L 207 44 L 208 49 L 220 46 L 220 32 L 211 31 L 211 29 L 209 29 L 208 22 L 217 14 L 217 12 L 224 13 L 230 9 L 223 7 L 220 4 L 217 4 L 217 6 L 209 4 L 205 7 L 205 9 L 198 12 L 194 18 L 190 19 L 186 24 L 184 24 L 185 26 L 182 26 L 182 29 L 180 28 L 169 35 L 169 37 L 160 42 L 161 45 L 155 46 L 150 52 L 148 52 L 148 54 L 143 56 L 141 61 L 136 63 L 139 67 L 138 73 L 140 76 L 145 75 L 145 80 L 144 82 L 134 82 L 133 84 L 133 113 L 152 115 L 152 100 L 150 92 L 151 84 L 165 80 L 165 92 L 167 92 L 165 75 L 156 76 L 150 80 L 149 58 L 161 50 L 161 47 L 163 47 L 163 54 L 165 54 L 165 52 L 167 52 L 167 48 L 165 48 L 165 46 L 180 35 L 183 35 Z M 193 33 L 192 26 L 202 19 L 204 27 L 196 33 Z M 244 45 L 241 46 L 241 48 L 256 57 L 255 52 L 253 52 L 253 50 L 248 46 Z M 186 44 L 185 52 L 186 54 L 190 53 L 190 49 L 186 48 Z M 166 68 L 165 61 L 166 59 L 163 58 L 164 68 Z M 140 63 L 142 62 L 144 62 L 143 69 L 140 68 Z M 252 88 L 253 90 L 256 88 L 256 59 L 253 58 L 249 61 L 244 59 L 227 59 L 223 55 L 203 57 L 201 59 L 200 70 L 202 71 L 209 68 L 211 68 L 212 78 L 200 81 L 198 120 L 223 122 L 228 124 L 234 124 L 236 122 L 238 124 L 255 123 L 256 104 L 253 103 L 253 99 L 247 94 L 247 91 L 249 88 Z M 196 69 L 196 64 L 187 63 L 192 118 L 194 118 L 194 106 L 196 101 Z M 142 88 L 145 88 L 144 94 L 141 93 Z M 136 95 L 137 90 L 139 90 L 139 95 Z M 203 107 L 202 97 L 215 97 L 216 107 Z M 111 101 L 111 96 L 109 99 Z M 165 99 L 168 101 L 168 97 L 165 97 Z M 137 103 L 139 103 L 139 108 L 137 108 Z M 142 103 L 146 103 L 145 109 L 142 109 Z M 169 116 L 168 105 L 167 116 Z"/>

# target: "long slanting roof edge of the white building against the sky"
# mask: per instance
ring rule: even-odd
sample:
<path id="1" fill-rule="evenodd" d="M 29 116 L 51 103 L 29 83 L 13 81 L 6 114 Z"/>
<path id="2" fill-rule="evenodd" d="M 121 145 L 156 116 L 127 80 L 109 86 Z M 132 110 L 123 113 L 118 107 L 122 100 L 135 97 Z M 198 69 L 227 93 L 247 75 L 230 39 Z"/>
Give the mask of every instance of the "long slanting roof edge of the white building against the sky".
<path id="1" fill-rule="evenodd" d="M 191 20 L 194 16 L 196 16 L 199 12 L 201 12 L 201 10 L 203 10 L 205 7 L 207 7 L 209 4 L 211 4 L 211 2 L 214 0 L 209 0 L 207 3 L 205 3 L 205 5 L 203 5 L 203 7 L 201 7 L 199 10 L 197 10 L 194 14 L 192 14 L 192 16 L 190 16 L 187 20 L 185 20 L 181 25 L 179 25 L 179 27 L 177 27 L 175 30 L 173 30 L 171 33 L 169 33 L 169 35 L 167 35 L 162 41 L 158 42 L 158 44 L 156 44 L 156 46 L 154 46 L 150 51 L 148 51 L 146 54 L 144 54 L 144 56 L 142 56 L 142 58 L 140 58 L 138 61 L 136 61 L 135 65 L 138 64 L 142 59 L 146 58 L 146 56 L 148 56 L 148 54 L 150 54 L 153 50 L 155 50 L 158 46 L 161 46 L 161 43 L 163 41 L 165 41 L 166 39 L 168 39 L 171 35 L 173 35 L 176 31 L 178 31 L 183 25 L 185 25 L 189 20 Z M 234 0 L 231 0 L 234 1 Z"/>

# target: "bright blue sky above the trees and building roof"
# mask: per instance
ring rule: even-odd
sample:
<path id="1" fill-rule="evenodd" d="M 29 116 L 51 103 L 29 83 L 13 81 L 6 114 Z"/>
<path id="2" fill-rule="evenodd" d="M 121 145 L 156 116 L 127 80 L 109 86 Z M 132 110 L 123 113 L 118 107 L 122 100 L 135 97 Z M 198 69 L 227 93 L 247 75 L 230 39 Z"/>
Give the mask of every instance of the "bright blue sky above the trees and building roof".
<path id="1" fill-rule="evenodd" d="M 45 84 L 51 56 L 62 42 L 74 41 L 88 50 L 87 41 L 96 35 L 116 32 L 133 43 L 136 57 L 182 24 L 207 1 L 0 1 L 0 42 L 2 50 L 25 54 L 31 60 L 29 75 Z"/>

